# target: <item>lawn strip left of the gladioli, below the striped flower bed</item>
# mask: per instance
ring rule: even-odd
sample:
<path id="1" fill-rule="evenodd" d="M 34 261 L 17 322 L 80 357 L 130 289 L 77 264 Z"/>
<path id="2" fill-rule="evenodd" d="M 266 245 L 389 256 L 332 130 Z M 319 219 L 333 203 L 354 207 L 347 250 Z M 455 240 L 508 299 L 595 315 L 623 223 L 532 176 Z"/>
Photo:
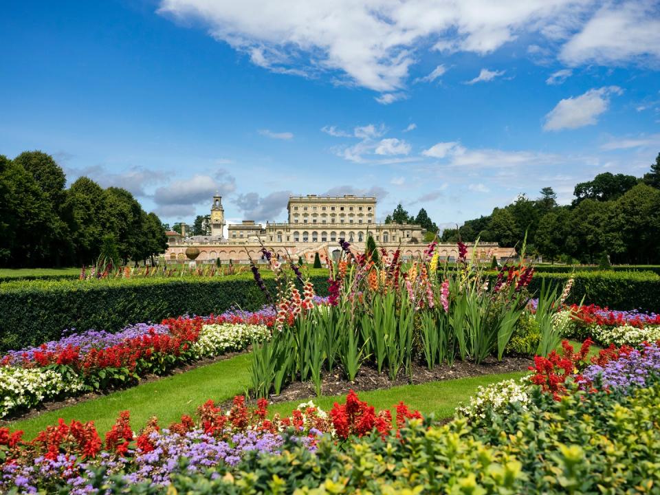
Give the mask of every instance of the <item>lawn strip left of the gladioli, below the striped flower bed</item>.
<path id="1" fill-rule="evenodd" d="M 155 382 L 111 393 L 74 406 L 45 412 L 33 419 L 14 421 L 12 430 L 25 431 L 25 438 L 32 439 L 46 426 L 56 424 L 58 418 L 66 421 L 91 421 L 100 432 L 111 428 L 122 410 L 131 411 L 134 430 L 142 428 L 146 421 L 157 416 L 161 425 L 181 419 L 181 415 L 195 412 L 197 406 L 208 399 L 225 401 L 241 395 L 250 386 L 250 355 L 201 366 L 180 375 L 164 377 Z"/>

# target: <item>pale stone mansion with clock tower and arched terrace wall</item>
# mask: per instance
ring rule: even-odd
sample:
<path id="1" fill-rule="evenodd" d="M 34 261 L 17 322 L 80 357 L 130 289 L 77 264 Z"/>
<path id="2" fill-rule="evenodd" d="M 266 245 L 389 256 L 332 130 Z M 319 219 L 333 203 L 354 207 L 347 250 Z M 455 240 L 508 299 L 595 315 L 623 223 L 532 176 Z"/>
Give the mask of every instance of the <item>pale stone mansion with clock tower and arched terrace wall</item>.
<path id="1" fill-rule="evenodd" d="M 426 248 L 420 225 L 410 223 L 376 223 L 376 198 L 344 195 L 327 197 L 318 195 L 292 196 L 287 203 L 288 219 L 285 223 L 265 225 L 253 220 L 229 224 L 228 236 L 223 236 L 226 225 L 222 198 L 214 196 L 210 213 L 210 236 L 188 236 L 187 226 L 181 225 L 181 234 L 167 232 L 167 262 L 186 261 L 186 248 L 199 249 L 198 262 L 214 263 L 217 259 L 228 263 L 248 263 L 261 259 L 259 240 L 269 249 L 294 261 L 301 256 L 311 263 L 318 252 L 323 263 L 327 256 L 340 254 L 339 239 L 346 239 L 355 250 L 363 252 L 366 240 L 373 236 L 379 248 L 393 253 L 401 249 L 404 259 L 421 256 Z M 456 259 L 456 245 L 439 245 L 442 258 Z M 478 256 L 492 259 L 495 255 L 507 258 L 512 248 L 498 248 L 496 243 L 481 243 Z"/>

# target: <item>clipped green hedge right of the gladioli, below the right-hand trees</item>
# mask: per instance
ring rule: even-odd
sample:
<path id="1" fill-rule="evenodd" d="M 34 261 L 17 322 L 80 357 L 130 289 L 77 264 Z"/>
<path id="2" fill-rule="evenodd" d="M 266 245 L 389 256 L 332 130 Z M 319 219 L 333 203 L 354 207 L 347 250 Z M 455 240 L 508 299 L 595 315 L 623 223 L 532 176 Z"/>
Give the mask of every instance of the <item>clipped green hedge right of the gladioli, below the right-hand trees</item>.
<path id="1" fill-rule="evenodd" d="M 575 272 L 534 274 L 530 289 L 538 292 L 542 281 L 564 285 L 573 278 L 567 303 L 596 304 L 610 309 L 660 311 L 660 276 L 653 272 Z"/>

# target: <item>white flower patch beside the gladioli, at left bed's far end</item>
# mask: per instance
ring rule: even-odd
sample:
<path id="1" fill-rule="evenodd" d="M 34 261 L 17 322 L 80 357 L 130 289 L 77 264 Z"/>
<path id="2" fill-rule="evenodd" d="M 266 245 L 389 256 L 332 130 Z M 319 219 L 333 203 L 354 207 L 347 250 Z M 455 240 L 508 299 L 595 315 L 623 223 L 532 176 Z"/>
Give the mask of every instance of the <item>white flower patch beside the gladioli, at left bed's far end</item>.
<path id="1" fill-rule="evenodd" d="M 270 338 L 270 330 L 265 325 L 245 325 L 243 323 L 223 323 L 204 325 L 199 340 L 192 344 L 197 358 L 210 358 L 227 351 L 241 351 L 256 339 L 260 342 Z"/>

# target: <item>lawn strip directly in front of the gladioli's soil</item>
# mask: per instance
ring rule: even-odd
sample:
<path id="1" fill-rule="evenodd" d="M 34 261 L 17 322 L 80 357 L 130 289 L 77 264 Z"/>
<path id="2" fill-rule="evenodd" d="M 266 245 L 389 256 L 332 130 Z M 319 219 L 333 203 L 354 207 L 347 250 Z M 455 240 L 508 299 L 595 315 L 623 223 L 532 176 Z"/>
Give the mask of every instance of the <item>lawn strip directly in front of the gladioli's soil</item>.
<path id="1" fill-rule="evenodd" d="M 423 414 L 430 414 L 432 412 L 435 417 L 443 418 L 452 416 L 456 406 L 470 399 L 476 393 L 478 386 L 486 386 L 511 378 L 518 379 L 525 374 L 527 372 L 520 371 L 459 378 L 457 380 L 443 380 L 441 382 L 428 382 L 421 385 L 403 385 L 384 390 L 358 392 L 358 397 L 360 397 L 360 400 L 368 402 L 370 406 L 374 406 L 376 410 L 390 409 L 393 416 L 395 414 L 395 406 L 399 404 L 399 401 L 404 401 L 409 408 L 417 409 Z M 327 411 L 332 408 L 336 401 L 342 404 L 345 397 L 344 395 L 340 395 L 310 398 L 314 400 L 314 404 Z M 271 414 L 278 412 L 280 415 L 289 415 L 298 404 L 307 400 L 275 404 L 269 406 L 268 410 Z"/>

